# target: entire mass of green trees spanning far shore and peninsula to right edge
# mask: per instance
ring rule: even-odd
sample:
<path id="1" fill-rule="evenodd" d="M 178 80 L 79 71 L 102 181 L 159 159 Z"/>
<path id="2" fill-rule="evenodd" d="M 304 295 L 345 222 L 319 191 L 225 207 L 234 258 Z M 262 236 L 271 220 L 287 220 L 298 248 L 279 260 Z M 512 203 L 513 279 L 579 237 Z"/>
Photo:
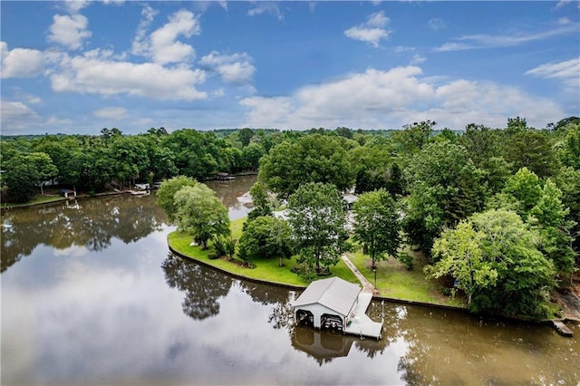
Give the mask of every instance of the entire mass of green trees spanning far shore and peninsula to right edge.
<path id="1" fill-rule="evenodd" d="M 429 256 L 426 275 L 451 278 L 451 291 L 466 294 L 472 311 L 545 315 L 551 290 L 569 284 L 578 265 L 580 119 L 543 130 L 522 118 L 496 129 L 435 126 L 421 121 L 372 132 L 152 129 L 138 136 L 102 130 L 97 137 L 3 140 L 3 182 L 14 189 L 8 177 L 22 157 L 44 173 L 42 179 L 52 175 L 95 190 L 111 180 L 182 175 L 193 182 L 181 180 L 183 186 L 170 192 L 169 213 L 174 210 L 173 219 L 200 244 L 213 240 L 223 254 L 237 251 L 250 262 L 299 252 L 297 268 L 314 277 L 336 264 L 352 241 L 372 256 L 373 266 L 388 256 L 411 266 L 404 244 Z M 95 154 L 102 158 L 88 162 Z M 242 169 L 259 170 L 259 184 L 251 192 L 256 209 L 236 246 L 213 200 L 205 207 L 215 209 L 207 223 L 214 228 L 196 222 L 202 218 L 196 203 L 208 192 L 194 179 Z M 352 188 L 359 200 L 349 241 L 343 193 Z M 280 202 L 287 221 L 272 217 Z"/>

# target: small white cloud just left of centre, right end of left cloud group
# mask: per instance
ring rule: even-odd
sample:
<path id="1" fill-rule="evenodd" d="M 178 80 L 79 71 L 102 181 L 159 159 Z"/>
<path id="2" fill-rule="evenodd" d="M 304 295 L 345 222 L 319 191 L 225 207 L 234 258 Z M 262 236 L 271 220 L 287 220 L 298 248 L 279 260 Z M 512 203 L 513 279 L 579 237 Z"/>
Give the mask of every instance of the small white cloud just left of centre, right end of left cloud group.
<path id="1" fill-rule="evenodd" d="M 199 61 L 209 71 L 218 72 L 227 83 L 247 84 L 252 81 L 256 67 L 247 53 L 222 54 L 212 51 Z"/>

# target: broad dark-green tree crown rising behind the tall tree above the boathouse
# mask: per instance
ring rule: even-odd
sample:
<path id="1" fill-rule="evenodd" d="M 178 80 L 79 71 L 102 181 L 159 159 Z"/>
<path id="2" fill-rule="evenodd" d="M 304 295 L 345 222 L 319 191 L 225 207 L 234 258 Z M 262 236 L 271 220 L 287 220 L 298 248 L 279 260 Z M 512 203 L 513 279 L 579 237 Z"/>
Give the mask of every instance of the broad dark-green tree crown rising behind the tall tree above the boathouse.
<path id="1" fill-rule="evenodd" d="M 351 188 L 355 171 L 347 157 L 347 141 L 320 134 L 285 141 L 260 160 L 259 179 L 284 198 L 307 182 Z"/>

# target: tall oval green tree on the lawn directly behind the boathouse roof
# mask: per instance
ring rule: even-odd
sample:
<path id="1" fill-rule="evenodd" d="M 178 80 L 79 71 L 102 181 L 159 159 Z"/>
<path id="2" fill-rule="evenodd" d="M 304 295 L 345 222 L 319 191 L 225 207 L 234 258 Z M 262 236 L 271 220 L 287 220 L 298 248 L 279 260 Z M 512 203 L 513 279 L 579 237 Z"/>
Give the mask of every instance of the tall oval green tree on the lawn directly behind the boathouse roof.
<path id="1" fill-rule="evenodd" d="M 345 216 L 344 200 L 330 184 L 309 182 L 288 198 L 288 221 L 303 252 L 301 262 L 317 274 L 338 263 L 346 239 Z"/>

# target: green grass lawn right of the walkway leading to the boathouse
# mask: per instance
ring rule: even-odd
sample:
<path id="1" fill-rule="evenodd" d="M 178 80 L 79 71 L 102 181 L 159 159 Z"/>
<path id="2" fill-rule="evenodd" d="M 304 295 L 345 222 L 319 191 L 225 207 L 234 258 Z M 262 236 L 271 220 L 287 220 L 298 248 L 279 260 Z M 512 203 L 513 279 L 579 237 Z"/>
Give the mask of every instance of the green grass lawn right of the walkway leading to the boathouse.
<path id="1" fill-rule="evenodd" d="M 374 284 L 371 258 L 361 252 L 346 255 L 349 256 L 362 275 Z M 425 279 L 423 274 L 423 266 L 426 264 L 424 256 L 412 252 L 411 255 L 415 258 L 412 270 L 408 270 L 405 265 L 392 257 L 389 260 L 377 262 L 376 286 L 380 296 L 429 304 L 464 306 L 460 297 L 453 299 L 440 294 L 440 283 Z"/>

